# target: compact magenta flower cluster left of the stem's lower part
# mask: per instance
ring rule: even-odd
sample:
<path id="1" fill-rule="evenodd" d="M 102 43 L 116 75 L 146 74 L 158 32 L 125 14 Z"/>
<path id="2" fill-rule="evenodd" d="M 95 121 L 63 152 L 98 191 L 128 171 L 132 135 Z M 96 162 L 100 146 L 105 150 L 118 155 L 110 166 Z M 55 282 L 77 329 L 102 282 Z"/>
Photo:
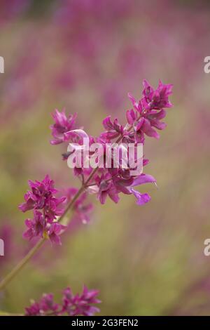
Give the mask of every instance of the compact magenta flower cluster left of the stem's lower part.
<path id="1" fill-rule="evenodd" d="M 20 204 L 19 209 L 22 212 L 33 210 L 34 217 L 25 220 L 27 230 L 23 237 L 29 240 L 34 237 L 48 237 L 52 243 L 61 244 L 59 235 L 66 226 L 56 219 L 64 211 L 66 197 L 55 197 L 57 190 L 48 175 L 42 181 L 29 180 L 29 187 L 31 190 L 25 194 L 25 202 Z"/>

